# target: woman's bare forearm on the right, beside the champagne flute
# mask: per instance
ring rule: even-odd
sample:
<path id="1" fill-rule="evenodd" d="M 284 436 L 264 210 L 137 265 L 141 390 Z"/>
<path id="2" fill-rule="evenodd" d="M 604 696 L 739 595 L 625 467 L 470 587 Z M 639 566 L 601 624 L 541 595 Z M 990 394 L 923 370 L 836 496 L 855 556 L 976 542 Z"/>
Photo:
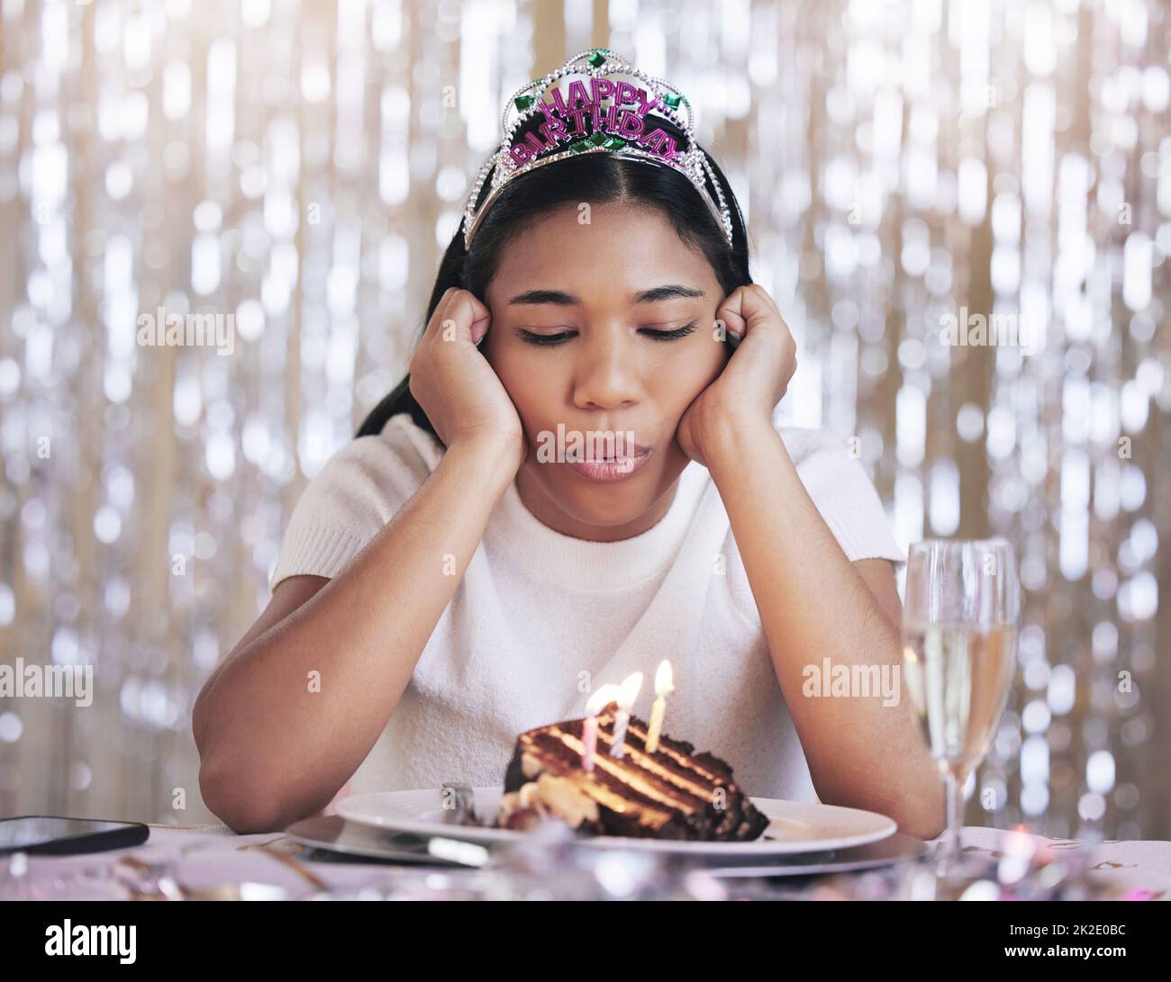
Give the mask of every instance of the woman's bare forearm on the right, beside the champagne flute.
<path id="1" fill-rule="evenodd" d="M 767 421 L 730 424 L 710 469 L 819 797 L 890 815 L 908 831 L 933 832 L 941 822 L 939 774 L 902 686 L 892 706 L 877 695 L 803 694 L 806 666 L 821 672 L 826 658 L 833 666 L 900 666 L 902 645 L 780 434 Z"/>

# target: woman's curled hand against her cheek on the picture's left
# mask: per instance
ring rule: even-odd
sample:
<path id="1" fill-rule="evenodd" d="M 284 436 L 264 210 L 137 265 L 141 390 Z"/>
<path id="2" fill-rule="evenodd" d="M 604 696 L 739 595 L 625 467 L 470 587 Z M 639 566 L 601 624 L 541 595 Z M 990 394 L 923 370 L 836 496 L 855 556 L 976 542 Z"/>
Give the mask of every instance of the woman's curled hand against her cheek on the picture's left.
<path id="1" fill-rule="evenodd" d="M 525 431 L 500 377 L 475 346 L 492 322 L 488 308 L 468 290 L 448 287 L 427 322 L 411 362 L 410 390 L 450 449 L 457 444 L 491 446 L 525 460 Z"/>

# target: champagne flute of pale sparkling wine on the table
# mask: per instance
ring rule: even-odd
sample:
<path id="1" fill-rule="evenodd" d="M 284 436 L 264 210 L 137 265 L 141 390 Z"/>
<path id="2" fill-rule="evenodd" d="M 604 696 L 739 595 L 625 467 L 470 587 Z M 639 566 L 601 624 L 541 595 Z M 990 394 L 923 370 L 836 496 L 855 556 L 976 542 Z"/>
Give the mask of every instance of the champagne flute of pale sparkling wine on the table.
<path id="1" fill-rule="evenodd" d="M 1016 660 L 1020 581 L 1005 538 L 929 538 L 906 563 L 903 668 L 947 801 L 937 872 L 960 871 L 964 784 L 1005 710 Z"/>

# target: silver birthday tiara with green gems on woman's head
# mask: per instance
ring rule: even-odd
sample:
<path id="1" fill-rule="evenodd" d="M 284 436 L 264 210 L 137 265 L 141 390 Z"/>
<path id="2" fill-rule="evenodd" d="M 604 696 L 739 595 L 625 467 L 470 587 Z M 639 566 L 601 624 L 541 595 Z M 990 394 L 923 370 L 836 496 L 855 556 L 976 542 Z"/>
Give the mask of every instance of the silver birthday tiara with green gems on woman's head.
<path id="1" fill-rule="evenodd" d="M 568 91 L 562 91 L 554 83 L 568 75 L 584 77 L 571 81 Z M 637 78 L 645 88 L 610 76 Z M 547 92 L 552 102 L 545 101 Z M 686 146 L 680 147 L 674 136 L 655 125 L 652 111 L 682 131 Z M 545 122 L 522 135 L 526 123 L 537 114 L 545 116 Z M 679 171 L 694 185 L 732 245 L 732 213 L 712 165 L 696 143 L 693 126 L 691 103 L 662 78 L 648 75 L 609 48 L 574 55 L 561 68 L 519 89 L 505 104 L 500 115 L 504 139 L 480 167 L 464 206 L 465 249 L 471 248 L 485 213 L 511 180 L 567 157 L 602 152 Z M 489 173 L 488 194 L 477 208 Z M 715 199 L 705 178 L 711 179 Z"/>

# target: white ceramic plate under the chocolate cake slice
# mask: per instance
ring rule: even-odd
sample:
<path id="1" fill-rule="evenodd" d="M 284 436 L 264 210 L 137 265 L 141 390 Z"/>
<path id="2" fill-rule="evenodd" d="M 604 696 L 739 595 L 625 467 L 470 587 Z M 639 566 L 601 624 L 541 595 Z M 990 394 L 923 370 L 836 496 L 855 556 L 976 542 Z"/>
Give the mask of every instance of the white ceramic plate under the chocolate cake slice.
<path id="1" fill-rule="evenodd" d="M 480 818 L 494 818 L 504 792 L 499 788 L 474 788 L 473 791 Z M 509 829 L 445 824 L 439 794 L 436 788 L 354 795 L 337 803 L 337 813 L 363 825 L 472 843 L 516 842 L 525 835 Z M 885 815 L 854 808 L 778 798 L 754 797 L 752 802 L 771 820 L 760 838 L 749 843 L 676 842 L 626 836 L 582 837 L 581 842 L 598 849 L 643 849 L 693 856 L 779 856 L 865 845 L 885 839 L 898 829 Z"/>

